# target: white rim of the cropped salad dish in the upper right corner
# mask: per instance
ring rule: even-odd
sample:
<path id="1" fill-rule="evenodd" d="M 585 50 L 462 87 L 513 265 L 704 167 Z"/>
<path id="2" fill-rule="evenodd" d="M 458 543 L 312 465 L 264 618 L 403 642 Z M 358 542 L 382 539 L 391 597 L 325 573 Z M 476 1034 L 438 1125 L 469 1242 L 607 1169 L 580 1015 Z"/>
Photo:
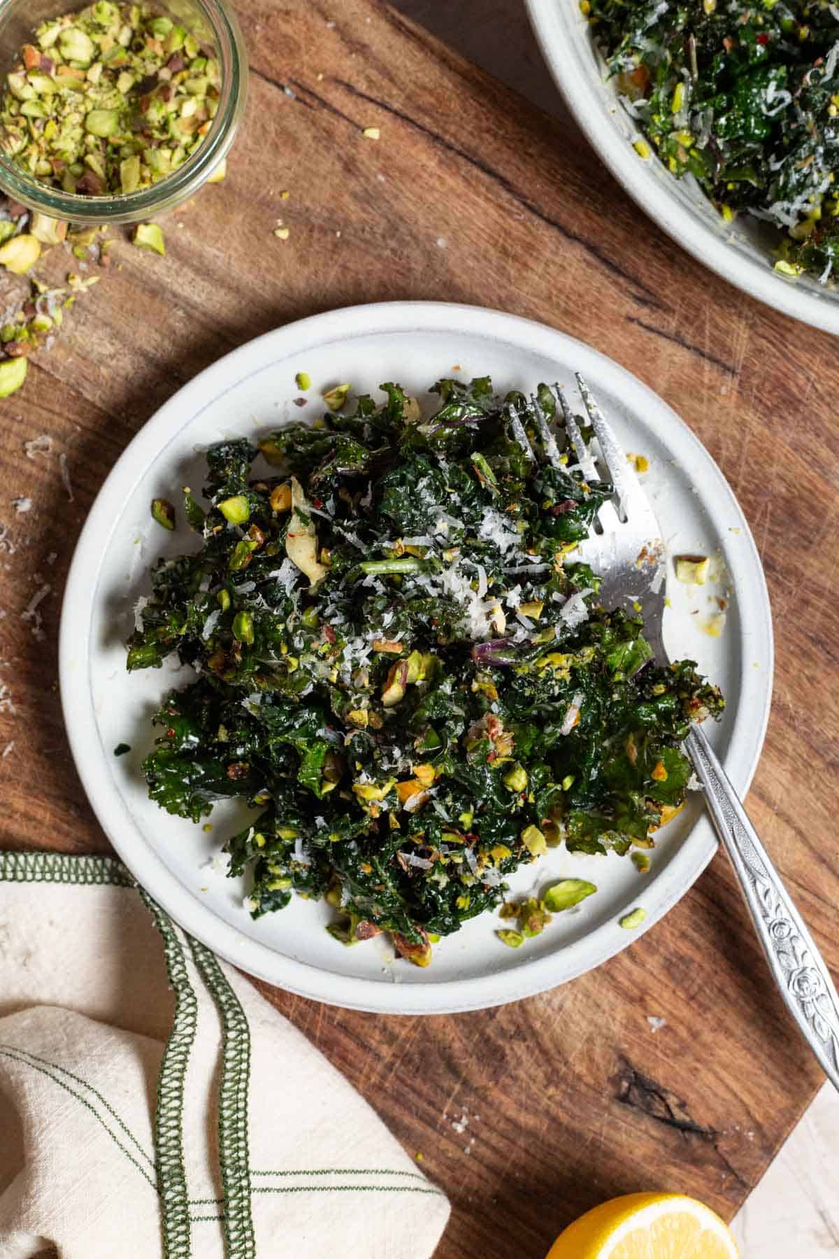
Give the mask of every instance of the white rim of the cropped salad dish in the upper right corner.
<path id="1" fill-rule="evenodd" d="M 839 296 L 835 301 L 777 276 L 752 258 L 736 253 L 698 217 L 684 213 L 642 161 L 630 144 L 604 116 L 594 82 L 574 57 L 561 57 L 576 39 L 561 14 L 571 0 L 525 0 L 536 40 L 551 77 L 576 125 L 635 204 L 682 249 L 722 279 L 764 305 L 825 332 L 839 334 Z M 575 5 L 575 13 L 579 9 Z M 580 15 L 581 16 L 581 15 Z"/>

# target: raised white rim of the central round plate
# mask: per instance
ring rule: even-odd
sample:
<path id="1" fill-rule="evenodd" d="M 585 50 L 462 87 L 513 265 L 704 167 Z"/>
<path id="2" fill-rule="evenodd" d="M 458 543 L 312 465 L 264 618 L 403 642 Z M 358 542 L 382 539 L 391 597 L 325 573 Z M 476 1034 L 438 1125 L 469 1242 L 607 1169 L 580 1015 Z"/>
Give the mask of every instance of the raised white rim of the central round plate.
<path id="1" fill-rule="evenodd" d="M 645 395 L 659 413 L 668 413 L 668 418 L 678 427 L 681 436 L 693 443 L 702 452 L 702 457 L 709 461 L 718 477 L 717 488 L 728 496 L 730 505 L 741 521 L 743 541 L 748 551 L 747 558 L 762 594 L 760 599 L 761 643 L 766 657 L 769 687 L 757 726 L 755 726 L 753 714 L 750 714 L 750 726 L 756 731 L 757 738 L 751 759 L 742 767 L 737 783 L 741 794 L 746 794 L 762 752 L 771 709 L 774 635 L 764 568 L 748 522 L 731 486 L 696 433 L 660 395 L 655 394 L 626 368 L 601 354 L 594 346 L 546 324 L 484 306 L 429 301 L 371 302 L 311 315 L 264 332 L 223 355 L 167 399 L 137 431 L 108 472 L 79 534 L 62 604 L 59 628 L 60 699 L 73 760 L 99 825 L 137 881 L 191 935 L 248 973 L 309 1000 L 375 1013 L 454 1013 L 489 1008 L 556 987 L 601 966 L 634 939 L 638 939 L 689 890 L 713 857 L 717 842 L 707 818 L 698 818 L 667 866 L 652 883 L 645 885 L 648 904 L 653 888 L 658 890 L 659 895 L 655 906 L 648 910 L 647 920 L 642 928 L 631 934 L 621 930 L 616 923 L 604 923 L 567 949 L 557 949 L 545 957 L 533 958 L 525 966 L 484 976 L 453 978 L 426 985 L 385 985 L 366 977 L 341 976 L 323 971 L 321 967 L 302 959 L 283 956 L 268 944 L 242 935 L 235 927 L 219 918 L 206 903 L 199 900 L 195 893 L 180 883 L 157 852 L 146 842 L 140 849 L 132 850 L 136 832 L 132 835 L 131 830 L 136 823 L 133 823 L 131 811 L 107 771 L 104 753 L 99 753 L 98 728 L 89 686 L 92 609 L 99 587 L 102 558 L 107 551 L 111 535 L 119 522 L 118 514 L 112 511 L 111 499 L 117 497 L 117 495 L 127 497 L 128 485 L 133 486 L 137 480 L 142 478 L 150 462 L 160 458 L 175 436 L 192 423 L 206 405 L 215 403 L 220 395 L 238 387 L 244 375 L 231 373 L 231 365 L 245 363 L 254 356 L 257 359 L 260 355 L 264 358 L 267 345 L 272 346 L 272 351 L 279 350 L 283 342 L 293 345 L 296 340 L 309 332 L 314 334 L 314 337 L 309 339 L 309 344 L 313 344 L 313 340 L 322 342 L 327 340 L 331 326 L 336 324 L 345 336 L 357 337 L 381 332 L 382 321 L 389 325 L 389 332 L 405 334 L 421 330 L 445 332 L 452 336 L 478 335 L 482 337 L 488 334 L 489 339 L 494 337 L 494 340 L 504 341 L 507 345 L 517 346 L 525 351 L 532 351 L 535 342 L 545 345 L 546 341 L 552 341 L 555 347 L 558 346 L 560 354 L 566 358 L 572 349 L 579 360 L 596 361 L 603 370 L 623 379 L 633 392 L 640 392 L 642 395 Z M 318 332 L 327 335 L 317 336 Z M 540 345 L 536 345 L 536 349 L 541 353 Z M 274 355 L 274 361 L 282 361 L 291 353 L 298 354 L 299 351 L 293 349 L 286 354 L 279 353 Z M 557 349 L 546 347 L 545 354 L 557 354 Z M 585 361 L 582 365 L 585 366 Z M 224 384 L 224 388 L 211 393 L 216 384 L 215 376 L 219 378 L 219 383 Z M 230 383 L 231 376 L 233 383 Z M 196 397 L 196 403 L 185 405 L 185 398 L 191 394 Z M 631 410 L 636 410 L 636 408 L 633 407 Z M 136 468 L 140 471 L 135 471 Z M 737 721 L 737 718 L 735 720 Z M 732 730 L 732 743 L 735 743 L 733 735 L 735 730 Z M 89 755 L 91 747 L 97 748 L 97 755 Z M 726 760 L 730 758 L 731 747 L 727 749 Z M 128 823 L 127 830 L 126 823 Z M 697 832 L 704 835 L 706 831 L 704 844 L 699 849 Z M 691 840 L 694 841 L 693 845 L 691 845 Z M 572 964 L 569 964 L 569 953 L 574 954 Z M 565 964 L 562 959 L 565 959 Z"/>

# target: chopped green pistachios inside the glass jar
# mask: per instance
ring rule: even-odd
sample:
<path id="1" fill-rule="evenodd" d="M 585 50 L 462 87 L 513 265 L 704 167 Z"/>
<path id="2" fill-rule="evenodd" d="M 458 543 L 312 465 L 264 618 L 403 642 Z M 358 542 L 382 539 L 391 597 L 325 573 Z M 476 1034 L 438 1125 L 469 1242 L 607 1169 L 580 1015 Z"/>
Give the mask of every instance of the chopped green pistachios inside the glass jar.
<path id="1" fill-rule="evenodd" d="M 204 141 L 220 76 L 170 18 L 101 0 L 43 23 L 23 45 L 0 93 L 0 146 L 65 193 L 133 193 Z M 224 161 L 210 179 L 223 178 Z"/>

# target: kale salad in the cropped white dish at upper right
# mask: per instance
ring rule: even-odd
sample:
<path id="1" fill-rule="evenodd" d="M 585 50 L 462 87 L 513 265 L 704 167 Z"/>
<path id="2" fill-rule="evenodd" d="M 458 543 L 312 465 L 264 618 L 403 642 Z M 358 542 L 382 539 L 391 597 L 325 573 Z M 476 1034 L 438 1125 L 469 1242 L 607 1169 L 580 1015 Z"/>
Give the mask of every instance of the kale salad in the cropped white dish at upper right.
<path id="1" fill-rule="evenodd" d="M 839 258 L 839 8 L 581 0 L 618 91 L 675 176 L 779 230 L 777 271 Z M 642 156 L 644 141 L 635 147 Z"/>

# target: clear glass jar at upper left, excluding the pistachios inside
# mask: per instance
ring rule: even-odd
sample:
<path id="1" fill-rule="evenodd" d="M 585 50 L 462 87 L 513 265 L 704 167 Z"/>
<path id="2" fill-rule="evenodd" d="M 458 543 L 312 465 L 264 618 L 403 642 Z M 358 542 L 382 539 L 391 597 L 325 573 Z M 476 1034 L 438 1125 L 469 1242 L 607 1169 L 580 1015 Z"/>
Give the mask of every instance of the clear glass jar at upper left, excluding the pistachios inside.
<path id="1" fill-rule="evenodd" d="M 208 48 L 220 65 L 219 106 L 210 131 L 186 161 L 150 188 L 136 193 L 82 196 L 43 184 L 0 154 L 0 189 L 30 210 L 70 223 L 140 223 L 170 210 L 218 170 L 244 113 L 248 54 L 236 16 L 225 0 L 164 0 L 151 5 L 172 18 Z M 49 18 L 81 8 L 73 0 L 0 0 L 0 82 L 30 43 L 31 33 Z"/>

